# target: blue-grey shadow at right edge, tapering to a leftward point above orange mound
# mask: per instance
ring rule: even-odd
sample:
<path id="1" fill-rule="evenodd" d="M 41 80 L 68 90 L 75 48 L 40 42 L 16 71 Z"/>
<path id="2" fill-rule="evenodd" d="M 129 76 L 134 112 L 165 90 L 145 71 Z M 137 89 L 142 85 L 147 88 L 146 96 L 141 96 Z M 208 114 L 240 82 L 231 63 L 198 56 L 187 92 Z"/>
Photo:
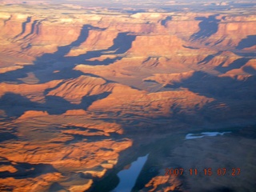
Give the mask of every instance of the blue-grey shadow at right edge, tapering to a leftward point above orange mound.
<path id="1" fill-rule="evenodd" d="M 186 87 L 194 93 L 204 95 L 208 98 L 222 99 L 255 99 L 256 77 L 251 76 L 245 81 L 239 81 L 230 77 L 218 77 L 202 71 L 194 72 L 193 76 L 174 82 L 173 85 L 166 85 L 170 88 Z"/>

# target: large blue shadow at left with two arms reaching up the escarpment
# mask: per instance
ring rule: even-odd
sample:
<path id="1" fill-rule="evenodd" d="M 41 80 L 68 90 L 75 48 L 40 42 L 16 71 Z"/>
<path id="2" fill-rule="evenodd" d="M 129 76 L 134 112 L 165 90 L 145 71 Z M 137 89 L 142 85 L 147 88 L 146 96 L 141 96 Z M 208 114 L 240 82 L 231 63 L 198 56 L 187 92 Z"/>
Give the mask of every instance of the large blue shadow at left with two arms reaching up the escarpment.
<path id="1" fill-rule="evenodd" d="M 20 78 L 26 78 L 27 74 L 33 72 L 35 77 L 39 79 L 39 83 L 49 82 L 57 79 L 78 78 L 83 73 L 81 71 L 73 70 L 78 64 L 86 65 L 110 65 L 113 62 L 117 62 L 122 57 L 106 58 L 103 61 L 89 61 L 90 58 L 98 58 L 107 54 L 125 54 L 127 50 L 130 50 L 131 44 L 136 38 L 135 35 L 128 33 L 119 33 L 114 38 L 113 46 L 110 46 L 106 50 L 94 50 L 87 51 L 86 54 L 80 54 L 78 56 L 66 56 L 73 47 L 80 46 L 82 42 L 85 42 L 88 38 L 90 30 L 105 30 L 98 27 L 84 25 L 80 31 L 78 39 L 71 42 L 67 46 L 58 46 L 58 50 L 53 54 L 43 54 L 42 57 L 37 58 L 32 66 L 24 66 L 20 70 L 14 70 L 2 74 L 0 82 L 16 82 L 22 83 Z M 110 52 L 110 53 L 108 53 Z M 58 73 L 54 73 L 58 71 Z"/>

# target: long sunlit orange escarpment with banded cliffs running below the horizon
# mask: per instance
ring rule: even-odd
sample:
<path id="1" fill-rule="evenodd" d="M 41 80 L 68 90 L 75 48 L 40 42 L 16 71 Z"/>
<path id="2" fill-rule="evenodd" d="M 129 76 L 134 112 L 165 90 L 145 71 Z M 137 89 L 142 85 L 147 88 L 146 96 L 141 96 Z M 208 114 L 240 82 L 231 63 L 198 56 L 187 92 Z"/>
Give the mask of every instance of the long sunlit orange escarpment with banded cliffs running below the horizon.
<path id="1" fill-rule="evenodd" d="M 154 15 L 153 13 L 145 13 L 106 15 L 104 17 L 96 14 L 88 14 L 88 16 L 89 17 L 74 14 L 71 17 L 69 14 L 66 14 L 62 17 L 57 15 L 48 17 L 42 14 L 34 15 L 5 12 L 2 14 L 1 37 L 5 40 L 9 39 L 9 41 L 11 40 L 11 42 L 17 43 L 18 46 L 20 46 L 19 49 L 22 49 L 24 54 L 28 51 L 31 56 L 33 54 L 34 56 L 38 56 L 38 54 L 43 54 L 45 51 L 54 51 L 56 46 L 65 46 L 74 42 L 78 39 L 83 24 L 87 23 L 90 26 L 98 28 L 94 29 L 94 27 L 91 27 L 91 30 L 87 34 L 88 38 L 86 41 L 82 42 L 78 47 L 72 47 L 72 49 L 79 51 L 82 51 L 82 49 L 86 51 L 89 47 L 91 50 L 107 49 L 120 32 L 138 35 L 138 43 L 140 41 L 146 41 L 146 43 L 154 45 L 162 44 L 164 45 L 162 47 L 164 51 L 166 51 L 165 46 L 173 47 L 174 43 L 176 48 L 182 49 L 181 46 L 178 46 L 182 40 L 188 43 L 188 45 L 186 45 L 186 43 L 182 42 L 182 46 L 190 46 L 190 42 L 187 42 L 187 40 L 190 40 L 196 45 L 194 46 L 196 48 L 198 48 L 198 46 L 199 48 L 200 46 L 214 46 L 217 49 L 223 49 L 223 47 L 227 48 L 228 46 L 230 49 L 231 47 L 238 46 L 239 42 L 247 38 L 247 36 L 250 37 L 254 35 L 253 29 L 255 22 L 253 16 L 241 17 L 224 14 L 215 16 L 214 14 L 191 13 L 185 15 Z M 165 21 L 164 19 L 166 17 L 171 17 L 171 19 L 166 20 L 165 25 L 162 25 L 161 23 Z M 209 29 L 209 25 L 212 26 L 213 29 Z M 189 33 L 187 33 L 187 31 L 189 31 Z M 234 33 L 235 31 L 239 33 Z M 157 36 L 152 37 L 148 34 L 157 34 Z M 161 35 L 170 34 L 174 36 L 172 38 L 170 38 L 170 36 L 161 37 Z M 178 38 L 182 38 L 182 40 L 178 40 L 178 38 L 175 37 L 176 35 Z M 150 40 L 147 41 L 146 38 L 150 38 Z M 170 38 L 170 40 L 166 39 L 164 43 L 154 43 L 154 41 L 161 42 L 161 39 L 165 38 Z M 136 49 L 137 44 L 134 42 L 134 49 Z M 41 50 L 39 50 L 39 47 Z M 44 51 L 44 49 L 46 50 Z M 137 49 L 141 50 L 139 48 Z M 41 53 L 39 53 L 39 51 L 41 51 Z M 170 53 L 172 53 L 171 50 L 169 54 Z M 142 54 L 145 53 L 142 52 Z M 158 53 L 156 52 L 155 54 Z M 163 52 L 163 54 L 166 53 Z"/>

